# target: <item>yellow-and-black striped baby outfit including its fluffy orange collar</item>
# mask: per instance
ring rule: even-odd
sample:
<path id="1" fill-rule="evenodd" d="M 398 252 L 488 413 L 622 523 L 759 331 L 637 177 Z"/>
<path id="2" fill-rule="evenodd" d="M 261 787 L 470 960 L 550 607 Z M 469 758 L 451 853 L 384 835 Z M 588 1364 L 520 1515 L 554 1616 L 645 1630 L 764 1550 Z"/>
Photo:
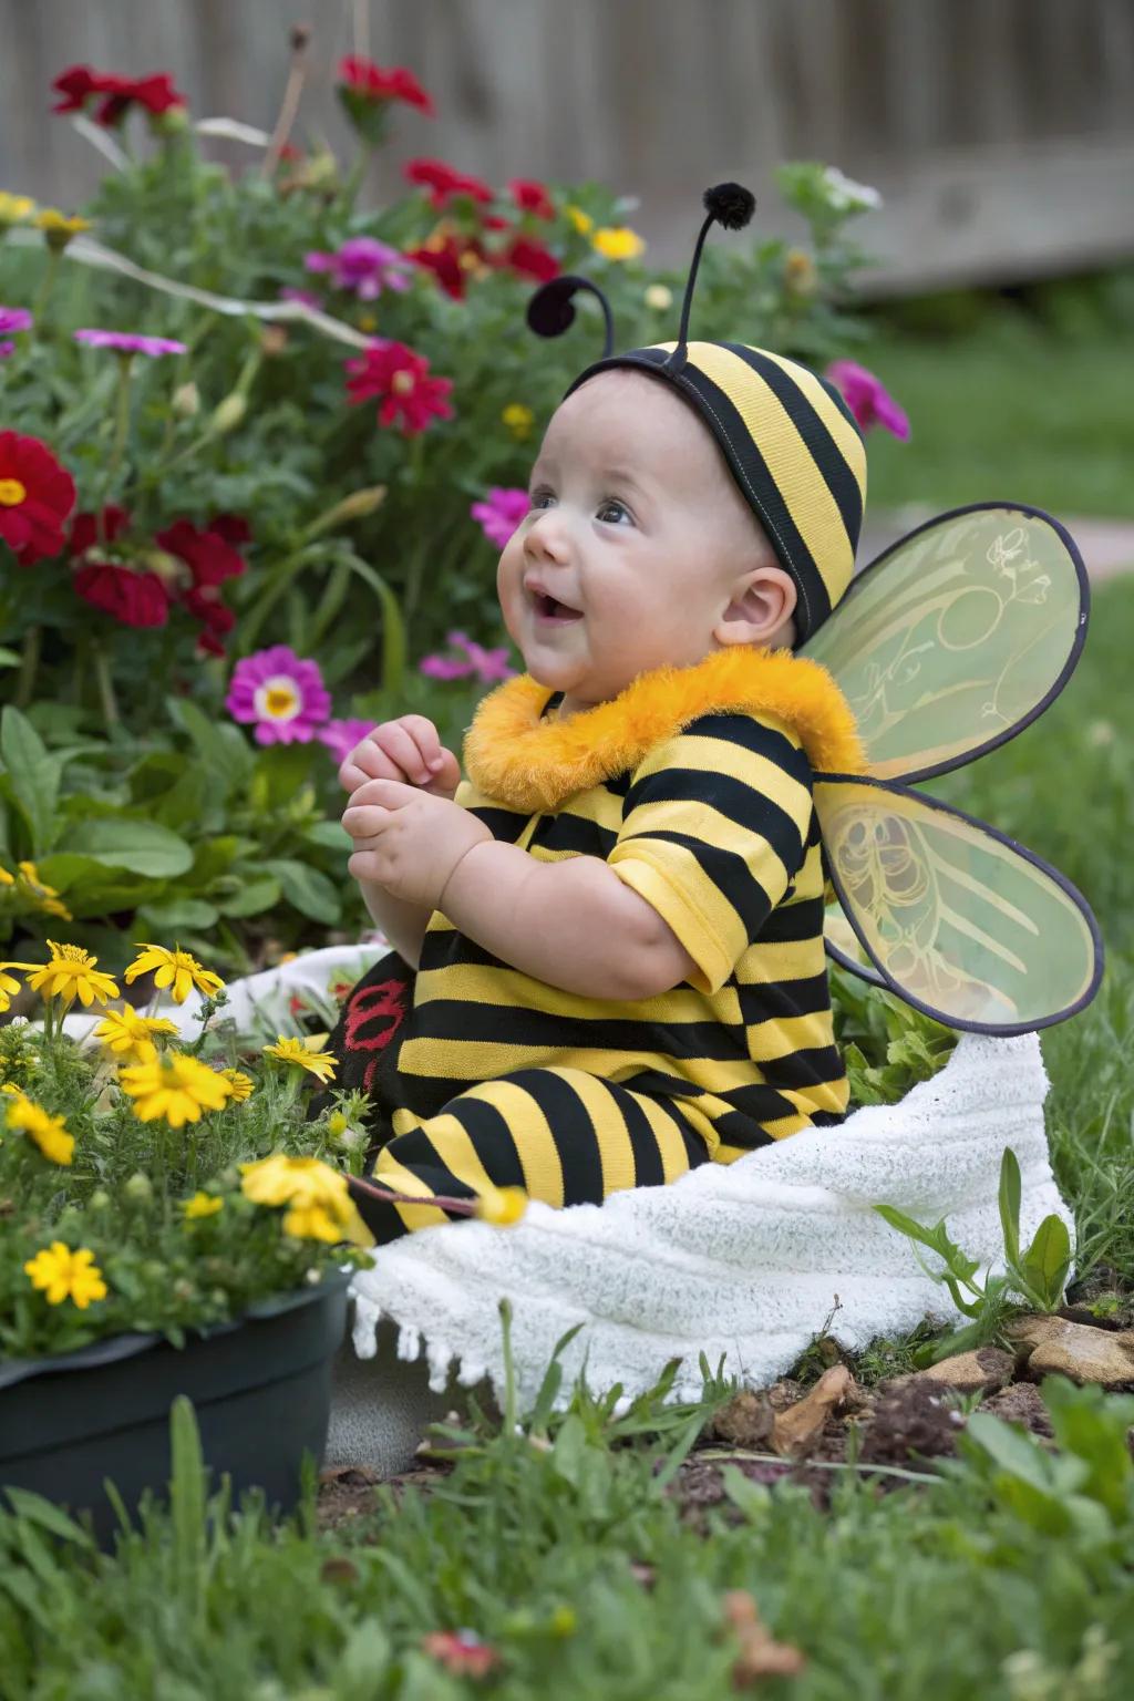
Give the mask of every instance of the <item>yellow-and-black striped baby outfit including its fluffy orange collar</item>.
<path id="1" fill-rule="evenodd" d="M 853 762 L 848 728 L 816 663 L 751 650 L 644 675 L 563 723 L 527 677 L 486 699 L 457 803 L 539 861 L 602 857 L 697 970 L 653 998 L 585 998 L 434 913 L 374 1180 L 598 1203 L 842 1121 L 808 747 L 826 737 L 825 767 Z M 360 1204 L 379 1240 L 445 1221 Z"/>

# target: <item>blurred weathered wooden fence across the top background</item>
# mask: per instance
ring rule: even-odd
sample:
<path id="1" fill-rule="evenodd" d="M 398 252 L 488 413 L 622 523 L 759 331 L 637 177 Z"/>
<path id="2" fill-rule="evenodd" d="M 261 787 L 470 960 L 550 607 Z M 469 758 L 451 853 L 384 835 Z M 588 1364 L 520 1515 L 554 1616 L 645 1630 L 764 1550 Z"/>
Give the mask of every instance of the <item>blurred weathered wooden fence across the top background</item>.
<path id="1" fill-rule="evenodd" d="M 823 158 L 886 197 L 859 226 L 879 287 L 1134 253 L 1134 0 L 0 0 L 0 187 L 75 204 L 104 168 L 49 117 L 77 61 L 170 70 L 196 116 L 270 128 L 298 20 L 301 129 L 347 146 L 332 85 L 355 48 L 434 94 L 435 119 L 400 111 L 376 194 L 413 155 L 602 179 L 680 260 L 704 184 L 751 184 L 787 228 L 774 165 Z"/>

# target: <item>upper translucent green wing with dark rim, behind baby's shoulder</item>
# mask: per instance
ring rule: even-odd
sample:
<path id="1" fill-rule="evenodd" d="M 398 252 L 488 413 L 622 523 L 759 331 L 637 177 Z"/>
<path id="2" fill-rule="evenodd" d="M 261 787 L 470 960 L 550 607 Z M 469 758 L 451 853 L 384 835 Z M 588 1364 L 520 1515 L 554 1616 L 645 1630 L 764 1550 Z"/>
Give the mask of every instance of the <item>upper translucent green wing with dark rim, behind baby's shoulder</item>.
<path id="1" fill-rule="evenodd" d="M 1074 541 L 1037 509 L 942 514 L 872 561 L 802 653 L 835 675 L 879 779 L 1005 743 L 1063 691 L 1086 636 Z"/>

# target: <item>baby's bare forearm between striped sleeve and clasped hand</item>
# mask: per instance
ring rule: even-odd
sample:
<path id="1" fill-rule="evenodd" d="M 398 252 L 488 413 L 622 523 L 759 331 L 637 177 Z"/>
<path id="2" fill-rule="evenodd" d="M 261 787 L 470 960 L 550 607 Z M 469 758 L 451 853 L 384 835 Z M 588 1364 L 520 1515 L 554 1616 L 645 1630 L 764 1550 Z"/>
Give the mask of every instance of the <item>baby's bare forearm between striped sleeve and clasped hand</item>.
<path id="1" fill-rule="evenodd" d="M 503 963 L 587 998 L 653 998 L 695 970 L 658 912 L 593 856 L 537 862 L 517 845 L 474 844 L 439 908 Z"/>

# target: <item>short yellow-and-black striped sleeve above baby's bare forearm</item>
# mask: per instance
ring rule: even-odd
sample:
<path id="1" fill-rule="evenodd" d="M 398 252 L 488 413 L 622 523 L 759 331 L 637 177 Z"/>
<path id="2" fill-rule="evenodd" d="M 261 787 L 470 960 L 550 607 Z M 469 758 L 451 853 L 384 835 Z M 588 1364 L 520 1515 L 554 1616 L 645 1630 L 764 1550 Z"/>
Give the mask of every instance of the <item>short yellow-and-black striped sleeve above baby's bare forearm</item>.
<path id="1" fill-rule="evenodd" d="M 755 714 L 706 714 L 634 771 L 609 862 L 673 929 L 714 993 L 799 873 L 811 765 Z"/>

